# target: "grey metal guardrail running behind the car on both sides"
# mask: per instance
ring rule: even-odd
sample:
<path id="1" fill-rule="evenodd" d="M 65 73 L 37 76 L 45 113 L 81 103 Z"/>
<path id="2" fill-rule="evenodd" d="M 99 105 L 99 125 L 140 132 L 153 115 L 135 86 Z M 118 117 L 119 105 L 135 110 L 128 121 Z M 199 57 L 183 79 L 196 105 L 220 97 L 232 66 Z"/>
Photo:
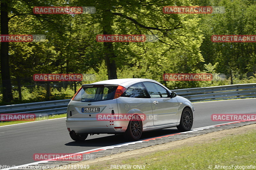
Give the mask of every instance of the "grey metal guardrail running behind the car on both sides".
<path id="1" fill-rule="evenodd" d="M 172 90 L 192 102 L 256 97 L 256 83 Z M 70 99 L 0 106 L 0 113 L 66 113 Z"/>

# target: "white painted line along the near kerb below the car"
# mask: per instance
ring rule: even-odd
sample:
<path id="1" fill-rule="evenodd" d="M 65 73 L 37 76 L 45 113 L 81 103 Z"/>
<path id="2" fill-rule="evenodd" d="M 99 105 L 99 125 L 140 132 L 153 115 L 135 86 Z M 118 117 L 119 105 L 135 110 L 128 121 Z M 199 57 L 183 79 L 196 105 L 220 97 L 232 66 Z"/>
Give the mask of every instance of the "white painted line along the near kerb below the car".
<path id="1" fill-rule="evenodd" d="M 58 119 L 59 119 L 59 118 L 58 118 Z M 50 120 L 51 120 L 51 119 L 50 119 Z M 228 123 L 222 123 L 222 124 L 231 124 L 231 123 L 236 123 L 236 122 L 241 122 L 241 121 L 228 122 Z M 214 126 L 218 126 L 218 125 L 222 125 L 222 124 L 214 124 L 214 125 L 211 125 L 211 126 L 204 126 L 204 127 L 192 129 L 191 131 L 180 132 L 180 134 L 188 133 L 188 132 L 193 132 L 193 131 L 199 131 L 199 130 L 203 130 L 203 129 L 208 129 L 208 128 L 211 128 L 211 127 L 214 127 Z M 172 133 L 172 134 L 173 134 L 173 133 Z M 174 133 L 174 134 L 175 134 L 175 133 Z M 171 134 L 167 134 L 167 135 L 171 135 Z M 166 135 L 162 135 L 162 136 L 166 136 Z M 161 136 L 158 136 L 158 137 L 161 137 Z M 158 137 L 154 137 L 154 138 L 158 138 Z M 146 139 L 151 139 L 151 138 L 146 138 Z M 91 150 L 87 150 L 87 151 L 77 152 L 77 153 L 74 153 L 74 155 L 75 155 L 75 154 L 85 153 L 85 152 L 92 152 L 92 151 L 96 151 L 96 150 L 106 150 L 106 149 L 110 149 L 110 148 L 115 148 L 115 147 L 120 147 L 120 146 L 124 146 L 124 145 L 135 144 L 135 143 L 142 143 L 142 142 L 143 142 L 144 140 L 146 140 L 146 139 L 142 139 L 142 140 L 135 141 L 135 142 L 126 142 L 126 143 L 117 144 L 117 145 L 104 146 L 104 147 L 101 147 L 101 148 L 95 148 L 95 149 L 91 149 Z M 25 165 L 20 165 L 20 166 L 14 166 L 14 167 L 10 167 L 10 168 L 5 168 L 5 169 L 3 169 L 3 170 L 9 170 L 9 169 L 11 169 L 11 168 L 19 168 L 19 167 L 21 167 L 21 166 L 36 165 L 36 164 L 39 164 L 39 163 L 44 163 L 44 162 L 49 162 L 49 161 L 51 161 L 51 160 L 47 159 L 47 160 L 42 160 L 42 161 L 38 161 L 38 162 L 33 162 L 33 163 L 25 164 Z"/>

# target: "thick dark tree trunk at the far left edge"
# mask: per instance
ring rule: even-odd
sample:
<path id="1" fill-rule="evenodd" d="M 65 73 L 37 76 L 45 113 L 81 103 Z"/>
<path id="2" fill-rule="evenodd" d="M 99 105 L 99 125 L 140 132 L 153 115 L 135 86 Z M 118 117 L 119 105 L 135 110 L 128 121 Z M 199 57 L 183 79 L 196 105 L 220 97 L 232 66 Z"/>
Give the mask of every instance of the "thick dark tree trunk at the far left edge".
<path id="1" fill-rule="evenodd" d="M 8 30 L 8 11 L 7 11 L 7 3 L 1 3 L 1 34 L 9 34 Z M 1 42 L 1 76 L 2 76 L 2 93 L 3 93 L 3 101 L 11 102 L 13 100 L 12 97 L 12 85 L 11 85 L 11 77 L 10 77 L 10 66 L 9 66 L 9 42 Z"/>

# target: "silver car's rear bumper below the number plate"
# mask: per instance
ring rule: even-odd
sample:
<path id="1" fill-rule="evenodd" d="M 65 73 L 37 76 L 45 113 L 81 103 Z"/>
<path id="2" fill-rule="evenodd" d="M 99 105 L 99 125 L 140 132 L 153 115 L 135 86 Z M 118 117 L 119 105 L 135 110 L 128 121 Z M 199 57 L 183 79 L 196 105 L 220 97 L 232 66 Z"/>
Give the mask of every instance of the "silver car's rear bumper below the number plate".
<path id="1" fill-rule="evenodd" d="M 121 133 L 125 132 L 129 121 L 98 121 L 86 118 L 67 118 L 66 125 L 76 133 Z"/>

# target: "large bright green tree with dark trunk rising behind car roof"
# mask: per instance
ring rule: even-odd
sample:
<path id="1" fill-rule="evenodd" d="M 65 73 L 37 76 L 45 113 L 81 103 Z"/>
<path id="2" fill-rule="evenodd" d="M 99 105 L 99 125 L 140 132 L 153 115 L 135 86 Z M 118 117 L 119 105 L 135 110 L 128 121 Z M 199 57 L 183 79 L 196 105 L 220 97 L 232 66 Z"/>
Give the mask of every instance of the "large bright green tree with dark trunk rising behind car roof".
<path id="1" fill-rule="evenodd" d="M 154 45 L 150 43 L 104 42 L 102 54 L 107 65 L 109 79 L 117 78 L 116 70 L 123 67 L 124 63 L 129 66 L 148 63 L 147 65 L 152 66 L 156 60 L 161 60 L 163 57 L 161 55 L 178 53 L 181 50 L 183 56 L 180 54 L 180 58 L 188 64 L 187 66 L 183 65 L 183 67 L 189 67 L 190 59 L 196 58 L 196 63 L 203 60 L 198 50 L 199 46 L 197 46 L 202 39 L 199 35 L 200 30 L 193 26 L 198 22 L 196 15 L 164 14 L 162 11 L 164 6 L 191 5 L 188 0 L 181 0 L 180 2 L 105 0 L 87 1 L 86 3 L 77 1 L 76 5 L 96 7 L 97 12 L 92 17 L 94 22 L 100 23 L 101 31 L 98 34 L 157 34 L 159 37 L 158 42 Z M 152 47 L 155 54 L 150 54 L 149 51 L 151 50 L 147 51 Z M 162 49 L 158 51 L 159 49 L 156 50 L 157 47 L 162 47 Z M 130 53 L 131 51 L 132 53 Z M 124 55 L 127 53 L 128 55 Z M 137 58 L 138 60 L 136 60 Z M 128 62 L 125 62 L 127 60 Z M 130 62 L 131 60 L 132 62 Z M 164 64 L 154 67 L 161 67 L 162 65 Z M 158 76 L 159 74 L 160 72 Z"/>

